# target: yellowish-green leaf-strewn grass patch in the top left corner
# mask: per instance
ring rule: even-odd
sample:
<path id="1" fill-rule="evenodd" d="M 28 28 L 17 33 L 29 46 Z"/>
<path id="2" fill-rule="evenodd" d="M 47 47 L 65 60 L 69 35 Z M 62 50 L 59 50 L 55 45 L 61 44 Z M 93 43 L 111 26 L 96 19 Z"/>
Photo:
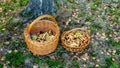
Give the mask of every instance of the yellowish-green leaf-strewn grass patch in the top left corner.
<path id="1" fill-rule="evenodd" d="M 2 8 L 2 12 L 0 13 L 0 17 L 5 18 L 5 22 L 2 23 L 8 23 L 12 20 L 12 16 L 15 15 L 16 12 L 20 12 L 20 8 L 26 6 L 29 3 L 29 0 L 12 0 L 9 3 L 8 2 L 2 2 L 0 1 L 0 7 Z"/>

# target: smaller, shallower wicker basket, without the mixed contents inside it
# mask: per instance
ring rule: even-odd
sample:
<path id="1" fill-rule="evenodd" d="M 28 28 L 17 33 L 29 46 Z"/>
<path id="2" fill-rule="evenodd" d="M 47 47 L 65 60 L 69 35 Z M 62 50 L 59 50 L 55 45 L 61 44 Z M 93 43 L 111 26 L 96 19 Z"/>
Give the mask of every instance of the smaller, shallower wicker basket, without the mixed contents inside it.
<path id="1" fill-rule="evenodd" d="M 84 30 L 85 33 L 87 34 L 88 36 L 88 39 L 86 39 L 86 42 L 85 43 L 82 43 L 81 46 L 79 47 L 72 47 L 72 46 L 69 46 L 68 44 L 65 43 L 65 36 L 68 35 L 69 33 L 71 32 L 76 32 L 76 31 L 80 31 L 80 30 Z M 89 41 L 90 41 L 90 30 L 86 29 L 86 28 L 75 28 L 75 29 L 72 29 L 72 30 L 69 30 L 69 31 L 66 31 L 62 34 L 62 37 L 61 37 L 61 42 L 62 42 L 62 46 L 67 49 L 68 51 L 71 51 L 71 52 L 78 52 L 78 53 L 81 53 L 86 47 L 87 45 L 89 44 Z"/>

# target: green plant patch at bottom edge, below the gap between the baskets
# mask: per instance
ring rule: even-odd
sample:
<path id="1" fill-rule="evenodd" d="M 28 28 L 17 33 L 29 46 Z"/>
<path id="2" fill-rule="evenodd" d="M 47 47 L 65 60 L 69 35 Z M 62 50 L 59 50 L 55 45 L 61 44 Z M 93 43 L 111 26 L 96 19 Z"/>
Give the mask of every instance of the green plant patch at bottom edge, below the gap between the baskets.
<path id="1" fill-rule="evenodd" d="M 60 62 L 59 60 L 47 60 L 46 61 L 50 68 L 63 68 L 65 62 Z"/>

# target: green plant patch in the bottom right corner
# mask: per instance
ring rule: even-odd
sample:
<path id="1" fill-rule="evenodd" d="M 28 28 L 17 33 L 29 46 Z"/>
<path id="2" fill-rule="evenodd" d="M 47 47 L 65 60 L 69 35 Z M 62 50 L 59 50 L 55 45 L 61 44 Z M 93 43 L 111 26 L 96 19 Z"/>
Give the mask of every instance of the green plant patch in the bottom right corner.
<path id="1" fill-rule="evenodd" d="M 112 57 L 106 58 L 106 65 L 104 68 L 119 68 L 119 65 L 117 65 L 113 60 Z"/>

